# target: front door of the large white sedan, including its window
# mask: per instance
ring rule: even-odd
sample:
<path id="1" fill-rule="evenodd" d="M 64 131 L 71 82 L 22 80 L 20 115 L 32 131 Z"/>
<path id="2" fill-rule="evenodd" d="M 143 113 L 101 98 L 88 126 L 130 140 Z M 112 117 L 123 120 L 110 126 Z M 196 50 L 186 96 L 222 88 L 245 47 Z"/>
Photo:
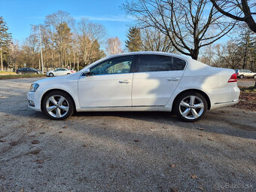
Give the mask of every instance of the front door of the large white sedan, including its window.
<path id="1" fill-rule="evenodd" d="M 131 107 L 134 56 L 117 56 L 90 68 L 78 81 L 81 108 Z"/>

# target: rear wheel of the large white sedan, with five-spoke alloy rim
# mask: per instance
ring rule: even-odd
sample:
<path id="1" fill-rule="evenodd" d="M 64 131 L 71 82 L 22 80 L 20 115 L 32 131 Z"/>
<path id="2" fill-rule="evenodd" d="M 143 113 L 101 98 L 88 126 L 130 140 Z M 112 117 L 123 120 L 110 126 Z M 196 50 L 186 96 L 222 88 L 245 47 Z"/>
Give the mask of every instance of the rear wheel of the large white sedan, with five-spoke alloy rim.
<path id="1" fill-rule="evenodd" d="M 181 93 L 174 103 L 175 114 L 187 122 L 200 120 L 206 114 L 207 108 L 206 98 L 195 91 Z"/>

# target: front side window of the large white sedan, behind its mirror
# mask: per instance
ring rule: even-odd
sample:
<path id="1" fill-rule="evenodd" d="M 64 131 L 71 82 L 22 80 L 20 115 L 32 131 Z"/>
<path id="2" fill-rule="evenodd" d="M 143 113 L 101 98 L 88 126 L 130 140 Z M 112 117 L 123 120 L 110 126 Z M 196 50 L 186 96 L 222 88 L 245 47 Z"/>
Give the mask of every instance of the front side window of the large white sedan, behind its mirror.
<path id="1" fill-rule="evenodd" d="M 133 56 L 118 56 L 90 68 L 91 75 L 130 73 Z"/>

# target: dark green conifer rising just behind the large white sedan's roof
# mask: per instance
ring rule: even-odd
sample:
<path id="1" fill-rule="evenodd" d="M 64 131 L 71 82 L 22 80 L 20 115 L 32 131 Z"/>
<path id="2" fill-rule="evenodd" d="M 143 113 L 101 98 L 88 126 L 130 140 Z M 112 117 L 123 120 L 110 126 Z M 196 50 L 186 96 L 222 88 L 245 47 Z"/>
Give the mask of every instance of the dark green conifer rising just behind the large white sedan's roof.
<path id="1" fill-rule="evenodd" d="M 142 38 L 140 29 L 131 27 L 127 37 L 128 40 L 125 43 L 130 52 L 142 50 Z"/>

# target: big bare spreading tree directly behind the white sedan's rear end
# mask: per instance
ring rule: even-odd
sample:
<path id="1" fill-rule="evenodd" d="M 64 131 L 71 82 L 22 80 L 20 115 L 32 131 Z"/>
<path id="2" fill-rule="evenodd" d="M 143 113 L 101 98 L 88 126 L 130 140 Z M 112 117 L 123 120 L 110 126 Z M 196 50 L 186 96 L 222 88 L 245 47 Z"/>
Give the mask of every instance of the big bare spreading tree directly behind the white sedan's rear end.
<path id="1" fill-rule="evenodd" d="M 233 24 L 220 22 L 221 15 L 208 0 L 133 0 L 123 9 L 140 25 L 167 35 L 176 50 L 193 59 L 198 58 L 200 48 L 233 29 Z M 215 34 L 211 35 L 210 29 L 215 29 Z"/>

